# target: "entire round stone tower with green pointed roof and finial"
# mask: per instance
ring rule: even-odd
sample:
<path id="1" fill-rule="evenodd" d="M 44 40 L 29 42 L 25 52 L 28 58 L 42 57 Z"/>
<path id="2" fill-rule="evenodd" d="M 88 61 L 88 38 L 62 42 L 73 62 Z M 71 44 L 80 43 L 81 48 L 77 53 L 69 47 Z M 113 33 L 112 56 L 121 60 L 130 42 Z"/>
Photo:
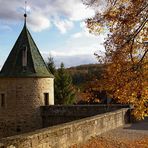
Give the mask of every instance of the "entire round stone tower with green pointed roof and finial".
<path id="1" fill-rule="evenodd" d="M 0 72 L 0 137 L 42 127 L 40 106 L 54 104 L 53 75 L 26 25 Z"/>

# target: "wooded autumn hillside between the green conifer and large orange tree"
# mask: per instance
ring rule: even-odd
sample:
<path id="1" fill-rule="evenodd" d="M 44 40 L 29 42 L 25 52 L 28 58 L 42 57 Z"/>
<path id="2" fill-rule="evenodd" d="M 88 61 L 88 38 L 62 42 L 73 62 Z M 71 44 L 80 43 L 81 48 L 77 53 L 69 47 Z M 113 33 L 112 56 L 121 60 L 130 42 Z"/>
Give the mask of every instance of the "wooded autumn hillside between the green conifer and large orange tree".
<path id="1" fill-rule="evenodd" d="M 76 88 L 77 103 L 106 103 L 106 92 L 101 88 L 105 67 L 102 64 L 88 64 L 67 68 Z"/>

